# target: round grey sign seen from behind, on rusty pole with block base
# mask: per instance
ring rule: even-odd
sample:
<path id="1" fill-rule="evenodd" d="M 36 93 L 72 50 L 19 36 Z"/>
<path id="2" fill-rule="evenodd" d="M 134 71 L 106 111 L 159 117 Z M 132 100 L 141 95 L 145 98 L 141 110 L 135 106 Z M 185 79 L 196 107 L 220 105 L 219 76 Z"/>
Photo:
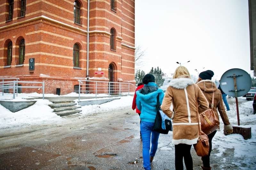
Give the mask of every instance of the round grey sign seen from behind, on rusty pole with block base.
<path id="1" fill-rule="evenodd" d="M 244 70 L 232 68 L 226 71 L 220 79 L 220 88 L 224 93 L 236 98 L 237 124 L 240 126 L 237 97 L 244 96 L 252 87 L 251 76 Z M 233 127 L 233 133 L 239 133 L 244 139 L 251 138 L 251 128 Z M 245 134 L 244 132 L 248 132 Z"/>

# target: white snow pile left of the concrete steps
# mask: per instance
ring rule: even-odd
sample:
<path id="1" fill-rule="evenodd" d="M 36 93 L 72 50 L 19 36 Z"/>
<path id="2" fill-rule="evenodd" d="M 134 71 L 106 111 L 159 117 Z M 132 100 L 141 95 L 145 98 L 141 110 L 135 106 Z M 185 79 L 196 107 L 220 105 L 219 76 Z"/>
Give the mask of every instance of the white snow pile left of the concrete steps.
<path id="1" fill-rule="evenodd" d="M 14 113 L 0 104 L 0 128 L 62 121 L 61 117 L 52 112 L 53 109 L 47 105 L 52 102 L 43 99 L 35 101 L 34 105 Z"/>

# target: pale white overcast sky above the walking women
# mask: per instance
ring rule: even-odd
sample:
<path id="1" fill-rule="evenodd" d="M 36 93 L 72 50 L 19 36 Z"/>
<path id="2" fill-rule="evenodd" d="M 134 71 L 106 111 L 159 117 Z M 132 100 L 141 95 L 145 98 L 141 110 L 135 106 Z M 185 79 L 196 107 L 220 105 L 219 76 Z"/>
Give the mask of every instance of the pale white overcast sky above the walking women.
<path id="1" fill-rule="evenodd" d="M 135 43 L 146 73 L 189 60 L 190 74 L 212 70 L 217 80 L 231 68 L 250 72 L 248 0 L 136 0 Z"/>

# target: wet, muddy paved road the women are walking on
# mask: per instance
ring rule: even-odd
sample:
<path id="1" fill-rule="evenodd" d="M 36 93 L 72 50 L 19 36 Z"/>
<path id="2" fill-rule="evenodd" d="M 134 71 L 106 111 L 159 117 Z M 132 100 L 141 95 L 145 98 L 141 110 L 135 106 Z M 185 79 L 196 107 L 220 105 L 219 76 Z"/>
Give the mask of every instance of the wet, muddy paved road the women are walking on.
<path id="1" fill-rule="evenodd" d="M 61 124 L 1 129 L 0 169 L 143 168 L 139 117 L 130 108 L 63 119 Z M 171 137 L 160 135 L 152 169 L 174 169 Z M 201 169 L 193 147 L 191 153 L 194 169 Z"/>

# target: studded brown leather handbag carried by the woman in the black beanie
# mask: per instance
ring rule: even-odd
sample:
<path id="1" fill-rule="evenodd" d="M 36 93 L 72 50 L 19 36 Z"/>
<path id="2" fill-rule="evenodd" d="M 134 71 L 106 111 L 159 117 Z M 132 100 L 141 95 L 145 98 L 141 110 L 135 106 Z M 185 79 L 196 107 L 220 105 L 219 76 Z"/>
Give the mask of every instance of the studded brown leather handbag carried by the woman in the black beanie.
<path id="1" fill-rule="evenodd" d="M 212 93 L 212 108 L 214 106 L 214 92 Z M 201 122 L 201 130 L 209 135 L 220 126 L 220 121 L 213 110 L 207 109 L 206 111 L 199 114 Z"/>

